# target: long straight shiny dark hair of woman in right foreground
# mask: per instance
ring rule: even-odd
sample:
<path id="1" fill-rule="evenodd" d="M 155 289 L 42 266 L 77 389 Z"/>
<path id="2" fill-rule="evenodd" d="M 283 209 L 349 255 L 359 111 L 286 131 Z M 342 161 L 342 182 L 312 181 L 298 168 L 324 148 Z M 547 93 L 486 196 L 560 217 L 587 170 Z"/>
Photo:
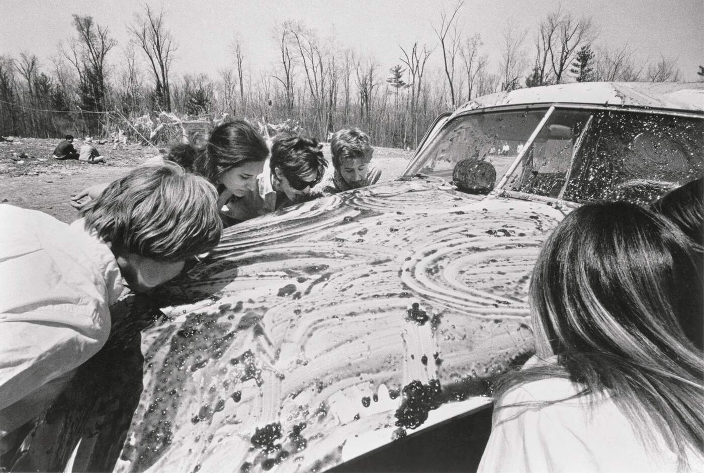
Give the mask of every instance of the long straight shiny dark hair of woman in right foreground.
<path id="1" fill-rule="evenodd" d="M 704 451 L 704 361 L 682 323 L 703 304 L 693 244 L 670 221 L 624 202 L 585 205 L 546 241 L 530 285 L 539 356 L 497 394 L 548 376 L 608 390 L 636 425 L 655 422 L 686 459 Z M 648 439 L 647 428 L 636 432 Z"/>

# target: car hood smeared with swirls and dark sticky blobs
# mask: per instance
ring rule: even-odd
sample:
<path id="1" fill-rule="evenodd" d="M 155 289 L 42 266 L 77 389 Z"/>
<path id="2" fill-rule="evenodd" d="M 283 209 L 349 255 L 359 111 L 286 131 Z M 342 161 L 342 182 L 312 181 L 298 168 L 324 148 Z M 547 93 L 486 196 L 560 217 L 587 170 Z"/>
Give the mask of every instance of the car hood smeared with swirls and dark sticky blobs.
<path id="1" fill-rule="evenodd" d="M 532 349 L 529 273 L 562 216 L 406 178 L 228 229 L 161 294 L 183 304 L 143 334 L 117 470 L 320 471 L 471 410 Z"/>

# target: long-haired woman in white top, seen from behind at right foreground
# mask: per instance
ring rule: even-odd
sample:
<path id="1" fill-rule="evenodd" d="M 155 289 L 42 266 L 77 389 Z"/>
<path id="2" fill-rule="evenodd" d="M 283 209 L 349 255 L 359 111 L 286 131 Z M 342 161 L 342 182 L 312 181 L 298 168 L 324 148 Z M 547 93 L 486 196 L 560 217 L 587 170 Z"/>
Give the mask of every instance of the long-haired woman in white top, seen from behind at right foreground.
<path id="1" fill-rule="evenodd" d="M 636 205 L 567 215 L 531 281 L 536 356 L 496 389 L 479 471 L 700 471 L 704 361 L 679 323 L 703 304 L 692 259 Z"/>

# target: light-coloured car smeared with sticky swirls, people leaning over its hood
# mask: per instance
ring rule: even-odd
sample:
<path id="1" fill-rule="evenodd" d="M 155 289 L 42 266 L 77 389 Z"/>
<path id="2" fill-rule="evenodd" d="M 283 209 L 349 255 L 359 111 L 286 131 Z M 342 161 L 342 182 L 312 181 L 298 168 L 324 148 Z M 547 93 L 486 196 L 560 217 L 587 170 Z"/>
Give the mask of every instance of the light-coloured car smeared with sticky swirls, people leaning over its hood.
<path id="1" fill-rule="evenodd" d="M 436 120 L 398 180 L 228 228 L 159 308 L 122 301 L 15 465 L 476 468 L 491 382 L 533 353 L 527 290 L 547 235 L 585 202 L 647 203 L 701 176 L 704 84 L 477 98 Z M 441 430 L 477 416 L 479 436 Z M 391 463 L 375 469 L 378 451 Z M 453 452 L 465 463 L 448 467 Z"/>

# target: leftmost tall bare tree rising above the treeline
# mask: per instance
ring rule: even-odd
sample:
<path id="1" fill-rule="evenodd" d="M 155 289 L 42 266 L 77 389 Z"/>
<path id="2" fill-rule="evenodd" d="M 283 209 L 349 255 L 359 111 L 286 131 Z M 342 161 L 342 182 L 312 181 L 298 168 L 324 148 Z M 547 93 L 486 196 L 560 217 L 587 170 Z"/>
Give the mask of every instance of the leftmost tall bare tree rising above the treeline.
<path id="1" fill-rule="evenodd" d="M 70 42 L 70 54 L 65 57 L 78 72 L 82 105 L 95 111 L 106 110 L 106 56 L 117 44 L 108 28 L 102 28 L 92 16 L 73 15 L 78 38 Z"/>

